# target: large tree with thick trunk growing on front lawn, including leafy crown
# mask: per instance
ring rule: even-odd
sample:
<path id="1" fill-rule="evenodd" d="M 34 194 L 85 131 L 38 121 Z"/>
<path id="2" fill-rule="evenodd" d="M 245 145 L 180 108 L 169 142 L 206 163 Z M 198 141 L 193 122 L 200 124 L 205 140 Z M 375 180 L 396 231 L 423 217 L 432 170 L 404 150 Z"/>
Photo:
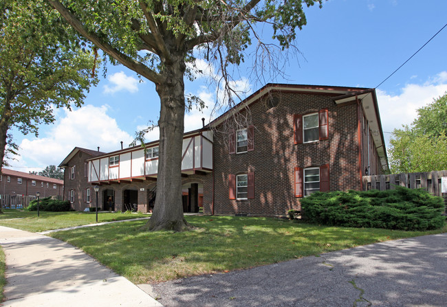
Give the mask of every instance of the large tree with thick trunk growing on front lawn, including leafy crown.
<path id="1" fill-rule="evenodd" d="M 47 0 L 85 38 L 155 83 L 160 96 L 160 157 L 157 197 L 146 227 L 188 229 L 182 210 L 182 138 L 184 76 L 197 56 L 217 60 L 223 88 L 230 93 L 227 67 L 239 65 L 252 39 L 267 56 L 258 25 L 271 25 L 276 47 L 293 46 L 296 30 L 306 24 L 303 5 L 323 0 Z"/>

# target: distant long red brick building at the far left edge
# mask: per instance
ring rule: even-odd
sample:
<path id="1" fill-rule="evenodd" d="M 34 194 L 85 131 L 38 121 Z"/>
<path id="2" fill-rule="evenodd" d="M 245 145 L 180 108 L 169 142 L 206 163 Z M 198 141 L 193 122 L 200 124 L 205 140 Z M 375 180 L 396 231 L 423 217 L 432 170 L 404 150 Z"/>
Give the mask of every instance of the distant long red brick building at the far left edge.
<path id="1" fill-rule="evenodd" d="M 40 192 L 41 198 L 63 196 L 63 180 L 7 168 L 3 168 L 1 172 L 0 203 L 3 207 L 26 207 L 32 199 L 36 198 L 37 192 Z"/>

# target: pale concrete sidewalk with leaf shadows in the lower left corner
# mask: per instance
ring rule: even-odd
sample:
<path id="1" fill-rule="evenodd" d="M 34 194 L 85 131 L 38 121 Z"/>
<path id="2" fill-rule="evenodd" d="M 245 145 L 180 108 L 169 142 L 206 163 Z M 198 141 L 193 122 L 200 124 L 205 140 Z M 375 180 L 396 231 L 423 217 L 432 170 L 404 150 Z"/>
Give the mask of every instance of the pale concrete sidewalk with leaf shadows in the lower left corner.
<path id="1" fill-rule="evenodd" d="M 61 240 L 0 227 L 3 306 L 162 306 L 124 277 Z"/>

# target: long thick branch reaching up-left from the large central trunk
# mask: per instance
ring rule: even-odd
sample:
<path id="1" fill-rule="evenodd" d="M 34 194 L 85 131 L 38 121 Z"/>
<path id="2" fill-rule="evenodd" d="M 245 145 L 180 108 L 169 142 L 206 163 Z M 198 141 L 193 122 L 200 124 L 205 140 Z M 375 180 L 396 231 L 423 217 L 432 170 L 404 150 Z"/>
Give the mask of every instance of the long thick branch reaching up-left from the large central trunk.
<path id="1" fill-rule="evenodd" d="M 88 38 L 92 43 L 94 43 L 97 47 L 99 47 L 103 52 L 109 54 L 112 58 L 120 62 L 122 65 L 132 69 L 133 71 L 139 73 L 144 78 L 147 78 L 154 82 L 155 84 L 160 84 L 164 82 L 164 77 L 159 73 L 156 73 L 152 69 L 149 69 L 142 62 L 138 62 L 137 60 L 133 60 L 133 58 L 123 54 L 118 49 L 111 46 L 109 43 L 102 41 L 102 39 L 96 34 L 89 32 L 79 21 L 79 19 L 72 14 L 65 6 L 59 2 L 58 0 L 47 0 L 53 8 L 58 10 L 58 12 L 65 18 L 65 20 L 74 27 L 76 31 L 78 31 L 81 35 Z"/>

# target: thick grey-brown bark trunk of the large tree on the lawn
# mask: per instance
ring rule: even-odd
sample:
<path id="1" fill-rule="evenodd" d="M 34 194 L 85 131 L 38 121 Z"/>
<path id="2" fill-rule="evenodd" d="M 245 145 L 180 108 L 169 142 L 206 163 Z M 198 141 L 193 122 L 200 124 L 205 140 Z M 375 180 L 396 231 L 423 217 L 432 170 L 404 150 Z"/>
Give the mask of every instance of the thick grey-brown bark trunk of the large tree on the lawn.
<path id="1" fill-rule="evenodd" d="M 157 195 L 151 219 L 143 229 L 152 231 L 190 229 L 182 205 L 182 144 L 184 133 L 184 56 L 166 66 L 166 82 L 157 84 L 161 110 L 158 126 L 160 145 L 158 157 Z"/>

